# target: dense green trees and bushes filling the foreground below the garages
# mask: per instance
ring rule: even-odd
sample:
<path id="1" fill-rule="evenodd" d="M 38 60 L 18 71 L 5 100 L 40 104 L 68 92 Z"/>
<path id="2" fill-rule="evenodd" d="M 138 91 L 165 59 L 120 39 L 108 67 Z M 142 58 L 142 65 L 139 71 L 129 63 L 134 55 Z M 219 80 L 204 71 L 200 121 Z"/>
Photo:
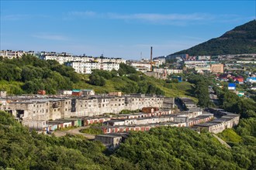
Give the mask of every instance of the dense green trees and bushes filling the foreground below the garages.
<path id="1" fill-rule="evenodd" d="M 242 140 L 231 149 L 209 133 L 161 127 L 132 132 L 119 148 L 107 151 L 81 136 L 29 133 L 0 111 L 0 169 L 255 169 L 254 123 L 242 122 L 237 128 Z"/>

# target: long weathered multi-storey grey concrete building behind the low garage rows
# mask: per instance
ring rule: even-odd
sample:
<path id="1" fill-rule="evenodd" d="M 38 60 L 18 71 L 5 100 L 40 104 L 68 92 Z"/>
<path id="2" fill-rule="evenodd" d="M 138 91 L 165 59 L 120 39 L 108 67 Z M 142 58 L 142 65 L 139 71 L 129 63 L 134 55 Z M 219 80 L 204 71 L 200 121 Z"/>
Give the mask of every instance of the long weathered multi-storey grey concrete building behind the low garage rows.
<path id="1" fill-rule="evenodd" d="M 165 103 L 165 100 L 168 103 Z M 174 100 L 174 99 L 173 99 Z M 44 127 L 45 121 L 70 117 L 93 117 L 121 110 L 141 110 L 143 107 L 173 107 L 170 98 L 144 94 L 92 97 L 2 97 L 0 109 L 13 114 L 17 121 L 29 127 Z"/>

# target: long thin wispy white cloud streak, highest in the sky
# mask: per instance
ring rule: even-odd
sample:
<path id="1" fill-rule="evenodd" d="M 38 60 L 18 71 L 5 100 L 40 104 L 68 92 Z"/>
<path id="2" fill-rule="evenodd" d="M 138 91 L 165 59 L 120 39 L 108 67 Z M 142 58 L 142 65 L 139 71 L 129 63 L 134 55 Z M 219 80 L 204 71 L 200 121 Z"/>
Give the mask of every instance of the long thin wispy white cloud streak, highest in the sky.
<path id="1" fill-rule="evenodd" d="M 115 12 L 67 12 L 64 19 L 119 19 L 125 21 L 140 21 L 149 23 L 169 24 L 177 26 L 185 26 L 187 24 L 193 24 L 195 22 L 236 22 L 241 19 L 248 19 L 233 14 L 219 14 L 213 15 L 209 13 L 132 13 L 122 14 Z M 249 17 L 251 19 L 251 17 Z"/>

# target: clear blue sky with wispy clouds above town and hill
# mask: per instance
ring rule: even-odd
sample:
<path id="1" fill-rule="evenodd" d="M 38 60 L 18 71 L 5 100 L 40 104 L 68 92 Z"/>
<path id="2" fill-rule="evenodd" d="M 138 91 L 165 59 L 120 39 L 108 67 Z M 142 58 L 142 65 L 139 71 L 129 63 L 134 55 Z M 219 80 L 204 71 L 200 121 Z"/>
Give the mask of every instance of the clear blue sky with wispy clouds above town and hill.
<path id="1" fill-rule="evenodd" d="M 140 59 L 255 19 L 255 1 L 0 1 L 0 49 Z"/>

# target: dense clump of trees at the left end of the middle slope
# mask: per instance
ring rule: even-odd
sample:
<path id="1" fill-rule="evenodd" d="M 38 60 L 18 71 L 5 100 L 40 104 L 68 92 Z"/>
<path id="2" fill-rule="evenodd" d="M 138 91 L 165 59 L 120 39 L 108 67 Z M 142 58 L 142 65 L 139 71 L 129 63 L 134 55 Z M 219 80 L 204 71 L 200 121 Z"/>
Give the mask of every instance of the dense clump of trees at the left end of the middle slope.
<path id="1" fill-rule="evenodd" d="M 71 89 L 73 83 L 80 80 L 71 67 L 30 55 L 19 59 L 2 59 L 0 67 L 0 80 L 22 82 L 23 93 L 36 93 L 37 90 L 56 93 L 59 89 Z M 14 93 L 22 92 L 17 90 Z"/>

